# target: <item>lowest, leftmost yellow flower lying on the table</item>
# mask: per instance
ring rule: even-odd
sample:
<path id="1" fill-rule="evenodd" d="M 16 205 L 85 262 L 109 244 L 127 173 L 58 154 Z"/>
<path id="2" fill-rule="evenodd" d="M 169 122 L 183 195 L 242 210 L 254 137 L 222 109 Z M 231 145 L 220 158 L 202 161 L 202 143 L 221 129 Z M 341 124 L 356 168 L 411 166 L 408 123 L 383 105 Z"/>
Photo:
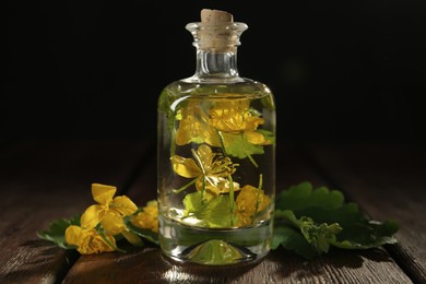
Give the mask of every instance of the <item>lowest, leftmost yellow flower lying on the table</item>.
<path id="1" fill-rule="evenodd" d="M 67 242 L 76 246 L 76 250 L 82 255 L 114 251 L 116 249 L 116 239 L 111 235 L 105 235 L 105 238 L 109 244 L 97 234 L 95 228 L 87 229 L 71 225 L 66 230 Z"/>

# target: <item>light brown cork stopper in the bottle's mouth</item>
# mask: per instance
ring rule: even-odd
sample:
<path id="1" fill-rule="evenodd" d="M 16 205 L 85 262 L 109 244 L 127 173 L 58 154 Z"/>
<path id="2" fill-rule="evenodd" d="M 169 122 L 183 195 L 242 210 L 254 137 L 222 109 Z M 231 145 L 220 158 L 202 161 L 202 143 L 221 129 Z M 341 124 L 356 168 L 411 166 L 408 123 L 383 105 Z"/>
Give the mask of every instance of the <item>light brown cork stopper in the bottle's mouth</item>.
<path id="1" fill-rule="evenodd" d="M 239 35 L 247 28 L 234 23 L 234 16 L 222 10 L 202 9 L 198 44 L 200 49 L 211 52 L 235 51 L 239 45 Z M 241 27 L 240 27 L 241 28 Z"/>

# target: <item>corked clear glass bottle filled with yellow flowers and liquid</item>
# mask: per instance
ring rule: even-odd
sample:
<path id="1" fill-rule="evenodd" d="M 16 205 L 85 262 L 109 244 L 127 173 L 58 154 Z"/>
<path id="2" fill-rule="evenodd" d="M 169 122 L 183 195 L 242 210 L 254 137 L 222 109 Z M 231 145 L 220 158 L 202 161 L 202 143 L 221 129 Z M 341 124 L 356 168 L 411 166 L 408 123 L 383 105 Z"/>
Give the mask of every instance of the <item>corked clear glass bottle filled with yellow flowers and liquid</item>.
<path id="1" fill-rule="evenodd" d="M 192 76 L 158 98 L 159 245 L 178 261 L 258 261 L 273 236 L 275 107 L 270 88 L 239 76 L 237 46 L 248 28 L 203 9 L 193 35 Z"/>

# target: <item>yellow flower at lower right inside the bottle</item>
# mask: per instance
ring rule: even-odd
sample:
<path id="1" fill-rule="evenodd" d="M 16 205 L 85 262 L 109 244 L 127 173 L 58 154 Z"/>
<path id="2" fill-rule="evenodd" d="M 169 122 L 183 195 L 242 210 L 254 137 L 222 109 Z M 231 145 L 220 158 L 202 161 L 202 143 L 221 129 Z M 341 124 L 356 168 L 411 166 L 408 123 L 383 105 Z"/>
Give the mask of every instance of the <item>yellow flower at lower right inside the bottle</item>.
<path id="1" fill-rule="evenodd" d="M 264 194 L 263 190 L 249 185 L 242 187 L 236 199 L 238 225 L 250 225 L 256 213 L 261 212 L 270 203 L 271 199 Z"/>

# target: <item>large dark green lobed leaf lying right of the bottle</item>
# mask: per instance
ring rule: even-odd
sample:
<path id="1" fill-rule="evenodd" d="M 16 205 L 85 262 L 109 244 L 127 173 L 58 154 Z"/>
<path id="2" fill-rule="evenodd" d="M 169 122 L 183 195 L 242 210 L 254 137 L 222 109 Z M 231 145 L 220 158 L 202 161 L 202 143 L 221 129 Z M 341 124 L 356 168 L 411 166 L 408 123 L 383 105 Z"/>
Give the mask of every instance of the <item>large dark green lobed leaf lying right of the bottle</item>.
<path id="1" fill-rule="evenodd" d="M 318 255 L 328 252 L 330 246 L 369 249 L 395 244 L 394 234 L 399 229 L 394 221 L 372 221 L 359 211 L 356 203 L 345 203 L 341 191 L 326 187 L 313 189 L 307 181 L 277 196 L 275 234 L 283 234 L 281 227 L 296 229 Z M 284 239 L 283 247 L 295 250 L 293 242 L 286 241 L 283 236 L 276 236 L 275 247 L 280 239 Z"/>

